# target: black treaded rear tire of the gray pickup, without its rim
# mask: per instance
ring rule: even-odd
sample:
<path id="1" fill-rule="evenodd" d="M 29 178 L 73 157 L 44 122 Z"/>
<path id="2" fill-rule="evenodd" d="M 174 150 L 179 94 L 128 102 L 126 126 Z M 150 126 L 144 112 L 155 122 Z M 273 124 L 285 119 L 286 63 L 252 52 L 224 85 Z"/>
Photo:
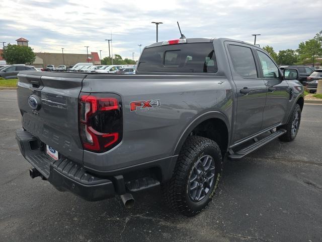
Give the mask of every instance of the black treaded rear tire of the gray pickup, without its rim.
<path id="1" fill-rule="evenodd" d="M 200 157 L 207 155 L 214 161 L 214 179 L 205 197 L 201 201 L 194 202 L 188 192 L 190 176 Z M 221 172 L 222 156 L 217 143 L 200 136 L 189 137 L 180 151 L 172 178 L 161 186 L 166 204 L 185 216 L 195 216 L 211 201 L 218 187 Z"/>

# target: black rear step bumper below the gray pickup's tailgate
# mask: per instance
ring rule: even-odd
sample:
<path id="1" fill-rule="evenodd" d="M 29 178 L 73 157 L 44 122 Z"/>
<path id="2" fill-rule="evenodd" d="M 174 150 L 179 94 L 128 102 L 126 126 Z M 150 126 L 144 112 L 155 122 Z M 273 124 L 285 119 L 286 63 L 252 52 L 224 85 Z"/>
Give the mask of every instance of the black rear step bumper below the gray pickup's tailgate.
<path id="1" fill-rule="evenodd" d="M 111 180 L 88 173 L 83 165 L 67 158 L 54 161 L 42 150 L 36 137 L 23 129 L 16 131 L 22 155 L 57 190 L 69 191 L 88 201 L 99 201 L 115 196 Z"/>

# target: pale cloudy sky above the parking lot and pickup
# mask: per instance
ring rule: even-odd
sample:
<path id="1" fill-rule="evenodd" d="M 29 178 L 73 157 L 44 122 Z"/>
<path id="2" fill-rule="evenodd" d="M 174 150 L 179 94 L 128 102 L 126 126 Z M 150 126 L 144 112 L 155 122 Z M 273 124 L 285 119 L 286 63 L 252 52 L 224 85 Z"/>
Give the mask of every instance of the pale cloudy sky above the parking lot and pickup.
<path id="1" fill-rule="evenodd" d="M 180 37 L 226 37 L 296 49 L 322 30 L 322 1 L 294 0 L 0 0 L 0 42 L 23 37 L 35 52 L 86 53 L 102 50 L 113 39 L 113 54 L 139 57 L 139 46 Z"/>

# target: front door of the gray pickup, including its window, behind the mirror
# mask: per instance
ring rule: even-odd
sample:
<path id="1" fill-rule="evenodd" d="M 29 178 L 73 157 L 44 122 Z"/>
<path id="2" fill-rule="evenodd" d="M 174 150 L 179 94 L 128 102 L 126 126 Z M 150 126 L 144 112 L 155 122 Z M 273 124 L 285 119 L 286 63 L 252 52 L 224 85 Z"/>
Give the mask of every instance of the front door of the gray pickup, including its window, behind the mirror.
<path id="1" fill-rule="evenodd" d="M 263 51 L 256 50 L 261 67 L 260 76 L 263 78 L 267 97 L 263 113 L 263 129 L 281 123 L 287 113 L 290 91 L 288 83 L 283 80 L 280 69 Z"/>

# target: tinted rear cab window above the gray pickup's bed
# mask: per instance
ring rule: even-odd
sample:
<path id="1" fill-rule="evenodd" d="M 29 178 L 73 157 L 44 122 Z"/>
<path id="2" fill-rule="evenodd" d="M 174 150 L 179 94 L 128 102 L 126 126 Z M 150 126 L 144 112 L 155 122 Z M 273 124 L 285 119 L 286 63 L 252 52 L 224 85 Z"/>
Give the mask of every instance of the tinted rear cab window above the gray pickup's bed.
<path id="1" fill-rule="evenodd" d="M 212 43 L 183 43 L 145 48 L 138 72 L 216 73 Z"/>

